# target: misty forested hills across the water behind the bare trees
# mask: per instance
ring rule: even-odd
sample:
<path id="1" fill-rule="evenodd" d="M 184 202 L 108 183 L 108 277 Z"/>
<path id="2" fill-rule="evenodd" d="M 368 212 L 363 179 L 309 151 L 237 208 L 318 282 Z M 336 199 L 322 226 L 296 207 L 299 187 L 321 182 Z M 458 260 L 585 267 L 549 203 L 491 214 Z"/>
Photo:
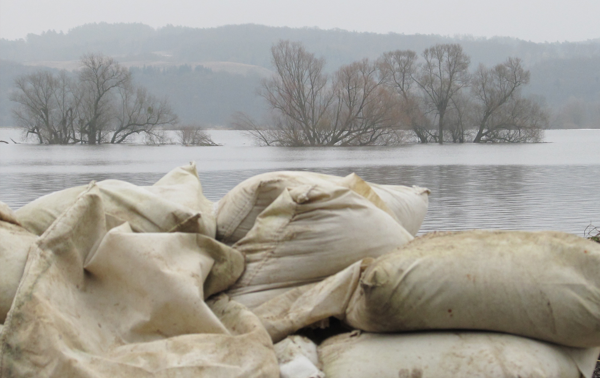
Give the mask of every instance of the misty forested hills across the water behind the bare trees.
<path id="1" fill-rule="evenodd" d="M 154 29 L 140 23 L 99 23 L 66 33 L 49 31 L 29 34 L 25 40 L 0 40 L 0 124 L 10 124 L 11 104 L 6 93 L 14 75 L 29 71 L 28 65 L 73 69 L 80 56 L 88 52 L 101 52 L 126 66 L 140 67 L 133 69 L 136 80 L 158 91 L 157 95 L 169 96 L 185 122 L 224 125 L 236 110 L 257 116 L 262 110 L 255 89 L 259 78 L 269 73 L 270 48 L 280 39 L 301 41 L 307 50 L 326 59 L 328 71 L 357 59 L 376 58 L 389 50 L 421 53 L 436 43 L 460 43 L 471 56 L 472 69 L 480 62 L 493 65 L 508 56 L 518 56 L 532 72 L 527 93 L 545 98 L 557 116 L 560 112 L 584 114 L 563 123 L 595 127 L 593 123 L 600 119 L 600 38 L 533 43 L 508 37 L 451 38 L 261 25 Z M 199 65 L 211 69 L 196 69 Z"/>

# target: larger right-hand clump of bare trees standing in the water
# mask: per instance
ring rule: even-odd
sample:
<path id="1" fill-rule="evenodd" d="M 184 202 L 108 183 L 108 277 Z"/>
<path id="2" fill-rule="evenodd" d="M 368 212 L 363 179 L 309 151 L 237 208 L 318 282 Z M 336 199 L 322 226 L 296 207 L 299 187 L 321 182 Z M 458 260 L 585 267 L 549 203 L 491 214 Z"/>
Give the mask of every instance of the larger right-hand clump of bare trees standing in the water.
<path id="1" fill-rule="evenodd" d="M 268 123 L 239 114 L 236 126 L 268 146 L 381 146 L 421 143 L 535 142 L 548 127 L 548 111 L 521 95 L 530 72 L 518 58 L 469 70 L 460 44 L 436 44 L 383 53 L 325 72 L 298 42 L 272 47 L 276 75 L 260 95 Z"/>

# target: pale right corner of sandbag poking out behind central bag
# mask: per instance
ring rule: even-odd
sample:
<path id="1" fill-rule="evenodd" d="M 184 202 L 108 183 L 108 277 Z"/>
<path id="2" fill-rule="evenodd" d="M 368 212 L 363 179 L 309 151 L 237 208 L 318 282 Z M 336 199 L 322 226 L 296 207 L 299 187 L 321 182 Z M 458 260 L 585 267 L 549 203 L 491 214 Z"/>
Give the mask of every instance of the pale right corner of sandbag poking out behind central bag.
<path id="1" fill-rule="evenodd" d="M 429 194 L 420 186 L 377 185 L 369 183 L 374 192 L 395 214 L 406 231 L 415 236 L 427 214 Z"/>

